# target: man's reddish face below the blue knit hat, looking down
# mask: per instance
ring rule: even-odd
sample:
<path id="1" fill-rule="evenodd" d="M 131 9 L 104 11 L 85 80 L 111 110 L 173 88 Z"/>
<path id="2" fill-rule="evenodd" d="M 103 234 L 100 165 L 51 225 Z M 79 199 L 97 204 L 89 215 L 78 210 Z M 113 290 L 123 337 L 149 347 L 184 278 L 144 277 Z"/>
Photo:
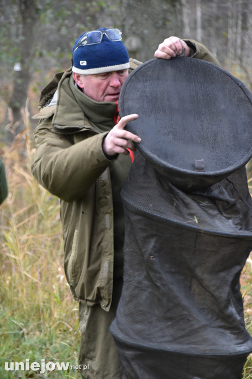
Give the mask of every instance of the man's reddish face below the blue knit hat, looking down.
<path id="1" fill-rule="evenodd" d="M 94 75 L 75 75 L 74 79 L 83 92 L 96 101 L 112 101 L 119 99 L 128 70 L 111 71 Z"/>

